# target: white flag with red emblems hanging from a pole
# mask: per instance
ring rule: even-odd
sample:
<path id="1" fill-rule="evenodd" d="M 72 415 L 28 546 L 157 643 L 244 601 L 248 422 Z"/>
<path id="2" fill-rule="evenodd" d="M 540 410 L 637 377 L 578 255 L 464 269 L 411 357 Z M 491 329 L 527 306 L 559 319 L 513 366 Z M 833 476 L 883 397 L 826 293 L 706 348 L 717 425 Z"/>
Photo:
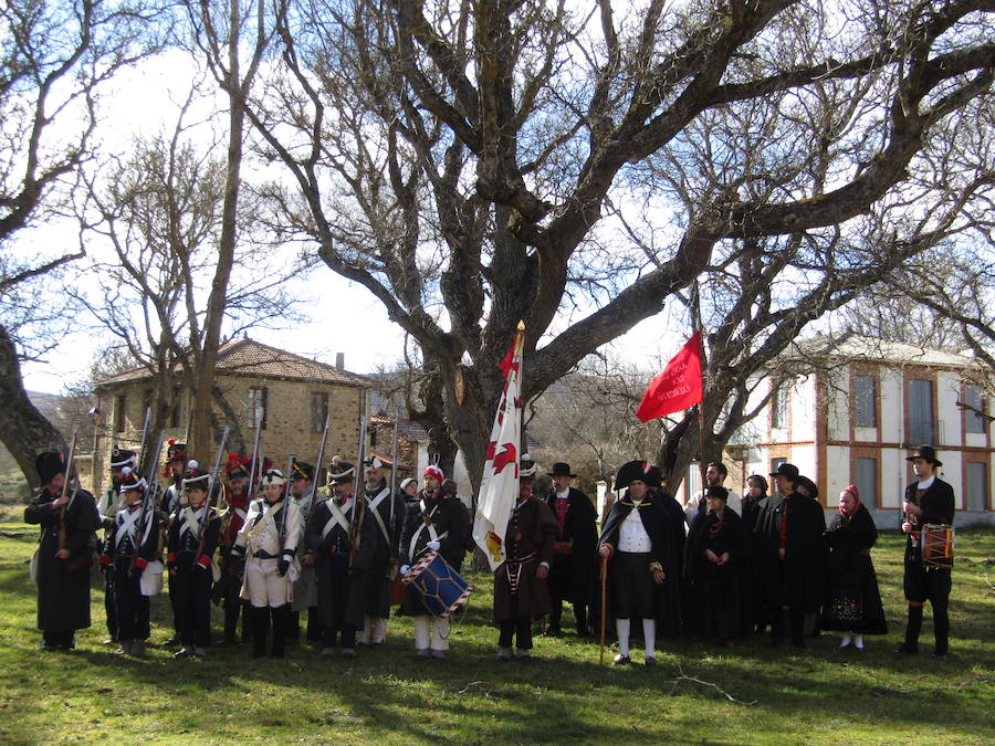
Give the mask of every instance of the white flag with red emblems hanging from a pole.
<path id="1" fill-rule="evenodd" d="M 522 349 L 525 325 L 519 322 L 515 342 L 504 360 L 504 390 L 494 417 L 488 459 L 480 482 L 480 500 L 473 521 L 473 540 L 483 549 L 491 569 L 504 561 L 504 530 L 519 498 L 519 443 L 522 441 Z"/>

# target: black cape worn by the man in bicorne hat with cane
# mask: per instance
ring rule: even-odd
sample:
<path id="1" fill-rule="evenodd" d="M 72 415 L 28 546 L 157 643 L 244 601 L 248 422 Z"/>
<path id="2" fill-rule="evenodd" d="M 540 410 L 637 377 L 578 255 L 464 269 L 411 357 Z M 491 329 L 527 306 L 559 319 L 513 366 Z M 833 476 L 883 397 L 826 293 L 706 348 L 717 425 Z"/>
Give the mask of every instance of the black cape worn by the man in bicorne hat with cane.
<path id="1" fill-rule="evenodd" d="M 666 501 L 647 497 L 642 503 L 639 507 L 639 517 L 642 519 L 642 526 L 649 534 L 652 544 L 650 554 L 654 561 L 662 565 L 666 575 L 662 584 L 653 586 L 657 633 L 672 637 L 681 632 L 680 568 L 682 558 L 678 554 L 678 546 L 674 543 L 675 529 Z M 607 543 L 618 547 L 619 526 L 632 512 L 632 500 L 628 492 L 621 500 L 615 502 L 601 527 L 599 538 L 601 544 Z M 681 532 L 683 533 L 683 529 Z M 608 611 L 610 614 L 610 609 Z"/>

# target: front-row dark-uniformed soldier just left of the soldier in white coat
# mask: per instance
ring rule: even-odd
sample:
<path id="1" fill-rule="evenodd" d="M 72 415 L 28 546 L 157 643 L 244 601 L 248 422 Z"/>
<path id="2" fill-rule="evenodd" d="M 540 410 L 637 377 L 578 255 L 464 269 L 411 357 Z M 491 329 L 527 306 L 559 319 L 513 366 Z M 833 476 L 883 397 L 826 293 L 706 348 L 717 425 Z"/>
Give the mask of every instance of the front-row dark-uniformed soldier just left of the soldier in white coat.
<path id="1" fill-rule="evenodd" d="M 214 551 L 221 535 L 221 516 L 211 506 L 208 491 L 218 494 L 202 469 L 184 474 L 186 503 L 169 526 L 166 563 L 169 582 L 176 584 L 176 607 L 182 645 L 174 658 L 203 658 L 211 644 L 211 585 Z"/>

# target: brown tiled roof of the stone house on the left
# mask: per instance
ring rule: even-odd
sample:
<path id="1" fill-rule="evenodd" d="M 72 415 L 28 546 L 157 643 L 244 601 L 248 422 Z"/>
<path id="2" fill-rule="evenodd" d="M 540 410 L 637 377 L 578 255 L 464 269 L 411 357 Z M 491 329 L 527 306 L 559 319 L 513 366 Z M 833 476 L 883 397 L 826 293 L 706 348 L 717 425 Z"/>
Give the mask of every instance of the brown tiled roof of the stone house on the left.
<path id="1" fill-rule="evenodd" d="M 218 364 L 214 370 L 229 376 L 248 378 L 270 378 L 324 383 L 342 383 L 368 388 L 369 379 L 348 370 L 339 370 L 335 366 L 311 360 L 293 353 L 287 353 L 254 339 L 233 339 L 221 345 L 218 350 Z M 135 368 L 105 378 L 102 386 L 150 378 L 146 368 Z"/>

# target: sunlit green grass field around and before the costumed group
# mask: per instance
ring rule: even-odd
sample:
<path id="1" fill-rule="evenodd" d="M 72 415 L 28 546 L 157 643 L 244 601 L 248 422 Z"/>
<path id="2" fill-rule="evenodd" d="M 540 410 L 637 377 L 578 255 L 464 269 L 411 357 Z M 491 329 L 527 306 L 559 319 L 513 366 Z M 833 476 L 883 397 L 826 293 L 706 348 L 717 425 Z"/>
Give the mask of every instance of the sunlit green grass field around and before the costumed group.
<path id="1" fill-rule="evenodd" d="M 802 653 L 765 640 L 722 650 L 680 640 L 662 643 L 656 669 L 619 670 L 599 666 L 597 645 L 573 637 L 537 639 L 532 663 L 495 663 L 486 576 L 472 578 L 479 590 L 446 661 L 412 660 L 405 620 L 391 620 L 385 649 L 354 661 L 310 648 L 282 661 L 253 661 L 244 649 L 174 661 L 157 647 L 147 660 L 122 659 L 100 644 L 100 592 L 77 649 L 43 653 L 25 565 L 35 530 L 0 528 L 25 532 L 0 538 L 4 744 L 995 743 L 991 532 L 959 536 L 945 661 L 891 653 L 904 629 L 901 539 L 886 535 L 874 563 L 891 632 L 869 638 L 867 652 L 837 652 L 836 635 Z M 166 597 L 153 608 L 158 643 L 170 632 Z M 928 652 L 929 618 L 924 627 Z"/>

